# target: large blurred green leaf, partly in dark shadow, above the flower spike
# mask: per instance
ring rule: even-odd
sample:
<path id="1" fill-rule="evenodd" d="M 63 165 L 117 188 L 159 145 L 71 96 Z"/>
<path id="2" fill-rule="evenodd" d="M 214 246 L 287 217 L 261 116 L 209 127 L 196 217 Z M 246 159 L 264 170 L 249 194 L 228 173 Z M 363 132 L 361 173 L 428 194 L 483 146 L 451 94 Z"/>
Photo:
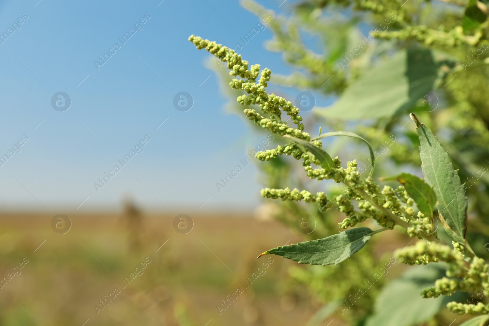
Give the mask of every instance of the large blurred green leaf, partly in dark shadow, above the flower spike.
<path id="1" fill-rule="evenodd" d="M 390 117 L 413 107 L 437 78 L 433 56 L 427 49 L 382 55 L 378 62 L 350 84 L 331 107 L 316 108 L 316 113 L 341 120 Z"/>

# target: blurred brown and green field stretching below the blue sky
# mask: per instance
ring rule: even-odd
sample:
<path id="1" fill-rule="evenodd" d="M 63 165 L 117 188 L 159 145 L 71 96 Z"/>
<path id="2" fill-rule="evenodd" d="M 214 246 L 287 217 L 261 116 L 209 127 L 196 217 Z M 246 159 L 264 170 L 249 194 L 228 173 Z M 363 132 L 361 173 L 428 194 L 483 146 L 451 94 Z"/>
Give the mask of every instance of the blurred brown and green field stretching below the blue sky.
<path id="1" fill-rule="evenodd" d="M 195 226 L 182 235 L 173 228 L 178 213 L 142 214 L 140 225 L 123 214 L 65 214 L 72 227 L 63 235 L 51 229 L 56 213 L 2 214 L 0 278 L 29 262 L 0 289 L 0 325 L 292 326 L 320 307 L 286 294 L 296 263 L 277 256 L 251 286 L 240 285 L 266 261 L 258 254 L 301 240 L 278 222 L 189 213 Z M 143 274 L 123 288 L 147 257 Z M 238 286 L 244 293 L 220 315 L 217 305 Z M 97 314 L 115 287 L 121 293 Z"/>

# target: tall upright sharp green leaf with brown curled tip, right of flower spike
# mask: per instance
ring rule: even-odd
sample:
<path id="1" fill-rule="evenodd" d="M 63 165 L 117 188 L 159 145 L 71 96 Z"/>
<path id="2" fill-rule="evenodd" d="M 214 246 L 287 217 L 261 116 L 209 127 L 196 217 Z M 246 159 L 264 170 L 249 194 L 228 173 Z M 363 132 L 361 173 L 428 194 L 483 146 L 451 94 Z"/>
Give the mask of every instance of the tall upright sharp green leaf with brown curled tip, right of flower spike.
<path id="1" fill-rule="evenodd" d="M 453 169 L 448 153 L 431 130 L 416 121 L 420 135 L 421 169 L 426 182 L 433 186 L 438 199 L 438 212 L 450 238 L 464 243 L 467 232 L 467 197 L 458 172 Z"/>

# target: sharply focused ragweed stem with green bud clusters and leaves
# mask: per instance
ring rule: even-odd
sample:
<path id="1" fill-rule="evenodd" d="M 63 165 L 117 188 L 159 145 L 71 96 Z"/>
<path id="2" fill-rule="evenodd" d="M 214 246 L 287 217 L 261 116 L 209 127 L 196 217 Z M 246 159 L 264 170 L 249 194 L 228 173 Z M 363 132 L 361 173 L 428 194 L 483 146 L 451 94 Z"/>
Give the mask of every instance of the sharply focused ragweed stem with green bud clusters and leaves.
<path id="1" fill-rule="evenodd" d="M 230 83 L 233 89 L 245 92 L 237 98 L 238 103 L 254 108 L 258 105 L 260 108 L 244 109 L 245 116 L 257 126 L 288 141 L 273 150 L 256 153 L 259 160 L 268 161 L 284 154 L 291 155 L 302 161 L 309 178 L 333 180 L 342 184 L 341 193 L 331 198 L 324 192 L 314 194 L 308 190 L 289 188 L 263 189 L 261 195 L 266 198 L 316 203 L 321 211 L 334 207 L 346 215 L 339 223 L 339 227 L 346 231 L 323 239 L 270 249 L 259 257 L 274 254 L 311 265 L 338 264 L 352 257 L 376 234 L 392 230 L 397 225 L 405 229 L 410 237 L 420 239 L 414 246 L 396 251 L 397 259 L 407 264 L 444 261 L 448 265 L 446 276 L 437 280 L 434 286 L 423 290 L 422 297 L 450 296 L 456 291 L 489 290 L 489 265 L 475 255 L 466 239 L 467 197 L 458 171 L 453 168 L 448 153 L 436 136 L 416 115 L 410 116 L 417 126 L 424 179 L 401 173 L 385 178 L 399 181 L 397 189 L 390 186 L 381 188 L 372 178 L 375 155 L 367 140 L 347 131 L 325 134 L 320 131 L 318 136 L 311 137 L 310 133 L 304 131 L 299 109 L 285 98 L 267 93 L 267 82 L 271 75 L 268 68 L 260 72 L 260 65 L 249 66 L 241 55 L 221 44 L 194 35 L 189 37 L 189 41 L 198 49 L 205 49 L 226 63 L 232 76 L 240 77 Z M 283 113 L 289 116 L 294 127 L 289 126 L 288 120 L 282 119 Z M 356 160 L 342 166 L 338 157 L 332 158 L 322 149 L 321 139 L 335 135 L 356 137 L 368 145 L 372 169 L 366 177 L 361 177 Z M 452 239 L 453 248 L 438 238 L 434 223 L 435 211 Z M 355 227 L 368 218 L 375 220 L 380 227 L 376 230 Z M 447 307 L 459 314 L 481 314 L 468 321 L 467 325 L 486 325 L 489 322 L 489 305 L 481 302 L 460 304 L 454 301 L 448 303 Z"/>

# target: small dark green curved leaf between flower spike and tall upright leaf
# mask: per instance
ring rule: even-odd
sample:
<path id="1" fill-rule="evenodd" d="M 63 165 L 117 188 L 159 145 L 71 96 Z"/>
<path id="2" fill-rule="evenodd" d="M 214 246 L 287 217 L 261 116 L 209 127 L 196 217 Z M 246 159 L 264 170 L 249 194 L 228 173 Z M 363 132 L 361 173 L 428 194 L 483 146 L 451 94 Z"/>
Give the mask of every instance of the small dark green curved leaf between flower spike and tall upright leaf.
<path id="1" fill-rule="evenodd" d="M 436 206 L 436 194 L 433 187 L 428 185 L 426 181 L 409 173 L 401 173 L 391 178 L 383 178 L 383 180 L 398 180 L 407 193 L 414 199 L 416 206 L 424 215 L 433 217 L 433 211 Z"/>

